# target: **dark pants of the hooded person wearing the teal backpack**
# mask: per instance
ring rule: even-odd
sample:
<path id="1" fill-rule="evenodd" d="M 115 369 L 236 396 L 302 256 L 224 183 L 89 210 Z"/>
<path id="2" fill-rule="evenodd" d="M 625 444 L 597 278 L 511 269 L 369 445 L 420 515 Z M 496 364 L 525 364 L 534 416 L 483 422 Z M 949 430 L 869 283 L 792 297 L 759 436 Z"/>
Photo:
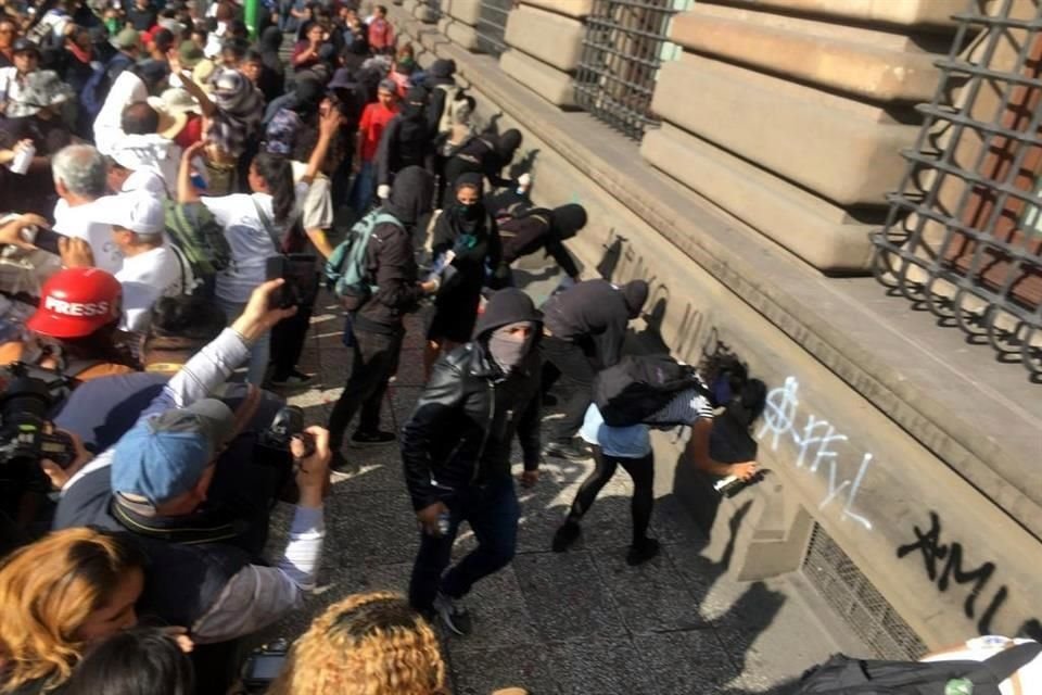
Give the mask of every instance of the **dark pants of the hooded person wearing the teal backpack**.
<path id="1" fill-rule="evenodd" d="M 359 408 L 358 431 L 376 432 L 380 429 L 380 404 L 387 392 L 387 381 L 398 369 L 405 336 L 404 331 L 384 334 L 357 327 L 354 333 L 355 361 L 351 365 L 351 376 L 329 416 L 329 443 L 334 452 L 343 445 L 347 425 Z"/>

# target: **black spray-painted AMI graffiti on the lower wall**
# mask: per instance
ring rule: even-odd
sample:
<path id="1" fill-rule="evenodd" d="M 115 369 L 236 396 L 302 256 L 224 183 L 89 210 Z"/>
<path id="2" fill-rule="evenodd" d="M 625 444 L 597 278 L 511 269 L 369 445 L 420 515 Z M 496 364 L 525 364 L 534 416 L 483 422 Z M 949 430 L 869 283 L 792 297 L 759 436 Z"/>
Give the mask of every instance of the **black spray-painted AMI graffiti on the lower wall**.
<path id="1" fill-rule="evenodd" d="M 930 511 L 929 528 L 915 525 L 912 527 L 912 533 L 915 540 L 898 547 L 898 559 L 908 555 L 914 556 L 918 551 L 923 569 L 939 592 L 943 594 L 949 590 L 961 591 L 965 587 L 963 612 L 967 618 L 977 621 L 977 630 L 980 634 L 991 634 L 995 615 L 1009 596 L 1009 587 L 1006 584 L 992 591 L 992 578 L 996 572 L 995 564 L 986 561 L 975 567 L 966 561 L 966 552 L 962 543 L 942 542 L 943 527 L 941 517 L 936 511 Z M 1042 622 L 1038 618 L 1030 618 L 1020 627 L 1018 634 L 1040 640 Z"/>

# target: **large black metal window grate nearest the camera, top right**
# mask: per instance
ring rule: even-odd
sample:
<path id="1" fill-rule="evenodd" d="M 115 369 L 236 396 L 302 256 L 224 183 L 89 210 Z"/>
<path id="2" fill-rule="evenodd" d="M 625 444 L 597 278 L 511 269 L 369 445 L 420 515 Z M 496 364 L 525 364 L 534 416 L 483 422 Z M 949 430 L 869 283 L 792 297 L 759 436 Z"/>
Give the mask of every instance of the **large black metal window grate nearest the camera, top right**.
<path id="1" fill-rule="evenodd" d="M 1012 10 L 1018 9 L 1021 18 Z M 1042 8 L 971 2 L 886 228 L 881 282 L 1042 379 Z"/>

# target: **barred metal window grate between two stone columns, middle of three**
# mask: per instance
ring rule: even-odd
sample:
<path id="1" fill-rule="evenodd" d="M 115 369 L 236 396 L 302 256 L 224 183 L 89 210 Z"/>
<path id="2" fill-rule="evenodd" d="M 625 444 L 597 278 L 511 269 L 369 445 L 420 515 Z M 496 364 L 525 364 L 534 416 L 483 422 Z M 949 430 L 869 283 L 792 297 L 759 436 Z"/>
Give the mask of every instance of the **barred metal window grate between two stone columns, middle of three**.
<path id="1" fill-rule="evenodd" d="M 658 125 L 651 94 L 671 51 L 674 0 L 594 0 L 575 79 L 575 100 L 596 118 L 639 140 Z"/>

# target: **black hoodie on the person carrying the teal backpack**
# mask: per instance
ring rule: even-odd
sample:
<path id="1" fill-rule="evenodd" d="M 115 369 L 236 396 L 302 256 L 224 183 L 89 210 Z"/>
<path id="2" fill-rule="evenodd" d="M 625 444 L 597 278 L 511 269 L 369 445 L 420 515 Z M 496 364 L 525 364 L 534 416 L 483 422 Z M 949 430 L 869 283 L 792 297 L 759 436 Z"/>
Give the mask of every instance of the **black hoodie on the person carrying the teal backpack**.
<path id="1" fill-rule="evenodd" d="M 416 311 L 423 291 L 417 285 L 411 232 L 420 217 L 430 211 L 433 192 L 433 178 L 419 166 L 402 169 L 395 178 L 391 198 L 380 212 L 390 214 L 402 225 L 385 222 L 372 229 L 366 249 L 366 267 L 377 289 L 355 313 L 355 329 L 398 333 L 405 315 Z"/>

